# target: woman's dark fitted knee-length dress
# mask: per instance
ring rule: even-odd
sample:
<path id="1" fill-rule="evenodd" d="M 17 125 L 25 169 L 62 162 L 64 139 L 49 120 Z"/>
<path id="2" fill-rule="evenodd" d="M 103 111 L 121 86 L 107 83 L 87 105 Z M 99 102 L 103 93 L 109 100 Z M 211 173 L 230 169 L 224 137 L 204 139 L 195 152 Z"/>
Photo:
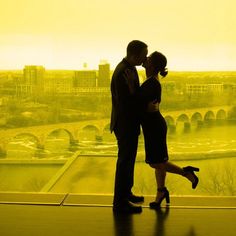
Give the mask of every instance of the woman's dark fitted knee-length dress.
<path id="1" fill-rule="evenodd" d="M 145 142 L 145 161 L 148 164 L 168 160 L 166 121 L 159 110 L 147 111 L 148 103 L 152 101 L 161 102 L 161 84 L 154 77 L 148 78 L 140 86 L 141 125 Z"/>

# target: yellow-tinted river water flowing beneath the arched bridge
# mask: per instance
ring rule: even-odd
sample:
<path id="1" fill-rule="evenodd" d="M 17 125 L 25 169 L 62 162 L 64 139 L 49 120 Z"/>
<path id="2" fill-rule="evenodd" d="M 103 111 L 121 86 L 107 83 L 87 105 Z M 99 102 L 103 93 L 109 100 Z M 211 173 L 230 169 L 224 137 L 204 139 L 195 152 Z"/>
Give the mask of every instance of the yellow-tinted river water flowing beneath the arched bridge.
<path id="1" fill-rule="evenodd" d="M 169 155 L 173 159 L 202 159 L 205 157 L 225 157 L 236 153 L 236 126 L 205 126 L 189 132 L 168 133 Z M 68 134 L 64 130 L 53 133 L 46 140 L 44 149 L 38 149 L 29 136 L 20 136 L 7 146 L 6 158 L 68 158 L 74 151 L 81 154 L 111 155 L 117 154 L 117 144 L 113 134 L 104 133 L 103 140 L 95 139 L 93 130 L 82 132 L 79 142 L 70 145 Z M 138 156 L 144 156 L 142 135 L 139 140 Z M 182 157 L 181 157 L 182 156 Z"/>

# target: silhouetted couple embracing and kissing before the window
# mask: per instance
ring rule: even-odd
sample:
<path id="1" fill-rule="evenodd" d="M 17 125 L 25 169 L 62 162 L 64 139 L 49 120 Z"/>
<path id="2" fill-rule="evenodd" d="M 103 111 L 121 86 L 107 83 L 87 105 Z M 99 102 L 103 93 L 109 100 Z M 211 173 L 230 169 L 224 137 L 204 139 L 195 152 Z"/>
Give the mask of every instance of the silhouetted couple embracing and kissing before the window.
<path id="1" fill-rule="evenodd" d="M 193 189 L 198 184 L 198 177 L 194 173 L 199 171 L 198 168 L 181 168 L 168 161 L 167 125 L 159 110 L 159 79 L 168 74 L 167 59 L 157 51 L 149 56 L 147 54 L 148 46 L 144 42 L 131 41 L 127 46 L 126 57 L 117 65 L 111 81 L 110 128 L 118 144 L 113 199 L 113 211 L 116 213 L 142 212 L 142 207 L 136 203 L 144 202 L 144 197 L 132 193 L 140 125 L 144 135 L 145 162 L 154 168 L 157 183 L 156 199 L 149 204 L 150 208 L 159 209 L 164 199 L 167 204 L 170 202 L 169 192 L 165 186 L 166 172 L 187 178 Z M 140 65 L 146 70 L 146 80 L 141 86 L 135 67 Z"/>

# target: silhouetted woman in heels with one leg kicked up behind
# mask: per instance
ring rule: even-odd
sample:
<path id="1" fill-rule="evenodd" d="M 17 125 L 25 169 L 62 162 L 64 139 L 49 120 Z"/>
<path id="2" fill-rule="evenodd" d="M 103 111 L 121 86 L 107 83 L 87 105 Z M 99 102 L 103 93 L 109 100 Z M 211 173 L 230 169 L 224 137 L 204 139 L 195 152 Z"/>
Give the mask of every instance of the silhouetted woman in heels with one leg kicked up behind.
<path id="1" fill-rule="evenodd" d="M 145 142 L 146 163 L 155 169 L 157 182 L 156 200 L 150 203 L 150 208 L 158 209 L 163 199 L 167 204 L 170 202 L 169 192 L 165 186 L 166 172 L 175 173 L 186 177 L 192 182 L 195 189 L 198 177 L 194 171 L 198 168 L 187 166 L 180 168 L 168 161 L 168 150 L 166 144 L 167 125 L 160 113 L 161 84 L 159 76 L 168 74 L 166 69 L 167 59 L 160 52 L 154 52 L 143 63 L 146 69 L 146 81 L 140 87 L 141 123 Z M 154 101 L 157 109 L 148 109 L 148 103 Z"/>

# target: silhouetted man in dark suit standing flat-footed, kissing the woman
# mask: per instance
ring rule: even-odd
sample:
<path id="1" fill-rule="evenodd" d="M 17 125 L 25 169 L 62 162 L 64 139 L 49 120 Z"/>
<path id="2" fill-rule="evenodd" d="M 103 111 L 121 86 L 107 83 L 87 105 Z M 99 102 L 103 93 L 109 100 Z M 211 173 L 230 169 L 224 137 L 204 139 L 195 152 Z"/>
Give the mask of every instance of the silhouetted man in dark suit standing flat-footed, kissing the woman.
<path id="1" fill-rule="evenodd" d="M 126 57 L 117 65 L 111 80 L 112 113 L 111 132 L 118 144 L 113 211 L 139 213 L 144 197 L 131 192 L 134 182 L 134 164 L 140 134 L 137 91 L 139 78 L 135 66 L 141 65 L 147 56 L 147 45 L 139 40 L 127 46 Z"/>

